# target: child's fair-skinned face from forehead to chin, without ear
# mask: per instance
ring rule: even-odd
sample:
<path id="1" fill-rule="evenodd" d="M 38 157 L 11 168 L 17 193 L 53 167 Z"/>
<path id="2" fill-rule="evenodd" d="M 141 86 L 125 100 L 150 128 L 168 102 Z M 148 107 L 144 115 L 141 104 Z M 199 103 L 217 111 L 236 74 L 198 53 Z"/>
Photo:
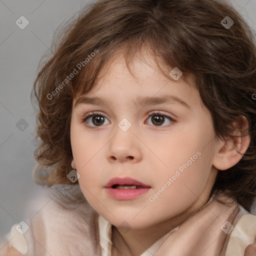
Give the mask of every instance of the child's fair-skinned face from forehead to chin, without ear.
<path id="1" fill-rule="evenodd" d="M 73 100 L 73 165 L 101 216 L 115 226 L 146 228 L 206 203 L 217 174 L 216 142 L 197 90 L 139 59 L 135 79 L 119 56 L 86 98 Z M 115 177 L 143 188 L 111 188 Z"/>

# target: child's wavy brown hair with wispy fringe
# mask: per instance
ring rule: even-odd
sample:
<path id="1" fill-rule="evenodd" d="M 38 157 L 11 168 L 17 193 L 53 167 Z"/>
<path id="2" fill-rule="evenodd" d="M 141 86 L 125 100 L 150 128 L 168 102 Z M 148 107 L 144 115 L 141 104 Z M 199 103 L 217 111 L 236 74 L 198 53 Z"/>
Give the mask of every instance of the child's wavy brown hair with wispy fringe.
<path id="1" fill-rule="evenodd" d="M 229 28 L 221 24 L 226 16 L 234 21 Z M 48 186 L 72 184 L 66 177 L 72 169 L 72 99 L 91 90 L 118 50 L 124 52 L 128 66 L 135 54 L 142 56 L 147 49 L 167 78 L 171 79 L 164 70 L 173 67 L 183 72 L 180 79 L 192 77 L 211 113 L 216 137 L 232 136 L 231 123 L 241 115 L 247 118 L 249 130 L 244 135 L 250 135 L 249 147 L 237 164 L 218 171 L 212 191 L 223 190 L 250 210 L 256 195 L 253 36 L 224 0 L 100 0 L 86 5 L 55 35 L 33 85 L 39 106 L 35 179 Z M 74 69 L 77 73 L 71 75 Z"/>

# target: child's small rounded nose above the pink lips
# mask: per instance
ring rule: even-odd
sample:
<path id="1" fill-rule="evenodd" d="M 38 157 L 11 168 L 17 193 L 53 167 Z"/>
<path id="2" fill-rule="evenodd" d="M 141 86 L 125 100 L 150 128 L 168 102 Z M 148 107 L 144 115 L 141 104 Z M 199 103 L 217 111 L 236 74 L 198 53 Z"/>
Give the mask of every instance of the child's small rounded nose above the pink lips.
<path id="1" fill-rule="evenodd" d="M 142 157 L 140 146 L 141 141 L 131 127 L 123 131 L 117 126 L 109 141 L 107 159 L 110 162 L 138 162 Z"/>

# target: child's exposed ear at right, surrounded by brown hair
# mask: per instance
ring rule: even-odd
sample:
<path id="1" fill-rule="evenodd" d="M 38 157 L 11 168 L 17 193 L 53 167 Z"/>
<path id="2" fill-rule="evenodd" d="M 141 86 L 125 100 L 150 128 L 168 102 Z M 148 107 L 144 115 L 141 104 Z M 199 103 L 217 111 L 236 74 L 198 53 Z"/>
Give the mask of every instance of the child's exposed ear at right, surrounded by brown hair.
<path id="1" fill-rule="evenodd" d="M 212 164 L 219 170 L 226 170 L 234 166 L 242 158 L 250 143 L 246 117 L 241 115 L 240 119 L 233 122 L 232 125 L 236 129 L 232 135 L 237 138 L 220 140 L 216 147 Z"/>

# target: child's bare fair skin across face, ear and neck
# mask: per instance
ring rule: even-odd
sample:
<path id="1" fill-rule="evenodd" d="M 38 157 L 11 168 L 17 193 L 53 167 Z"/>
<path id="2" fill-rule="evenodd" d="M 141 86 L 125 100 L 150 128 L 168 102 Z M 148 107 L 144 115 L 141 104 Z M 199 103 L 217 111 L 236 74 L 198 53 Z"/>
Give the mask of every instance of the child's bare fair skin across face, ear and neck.
<path id="1" fill-rule="evenodd" d="M 201 103 L 198 91 L 181 78 L 167 79 L 150 59 L 147 56 L 149 62 L 145 63 L 134 58 L 132 70 L 136 79 L 127 69 L 122 54 L 117 55 L 106 75 L 86 95 L 107 98 L 112 105 L 74 107 L 76 98 L 73 99 L 72 167 L 80 174 L 78 181 L 88 202 L 115 226 L 112 255 L 140 255 L 207 202 L 216 168 L 229 168 L 241 158 L 233 142 L 215 138 L 210 112 Z M 165 94 L 182 99 L 189 109 L 179 103 L 133 104 L 137 96 Z M 92 116 L 82 121 L 91 111 L 105 116 L 100 126 L 93 122 Z M 147 115 L 152 111 L 160 111 L 157 116 L 167 115 L 174 121 L 163 117 L 163 123 L 157 125 L 153 113 Z M 123 118 L 131 123 L 125 132 L 118 127 Z M 249 138 L 244 137 L 235 145 L 244 152 L 248 143 Z M 197 151 L 200 156 L 160 196 L 150 201 L 149 196 L 161 189 Z M 132 177 L 151 188 L 135 199 L 116 200 L 104 188 L 116 176 Z M 127 231 L 123 232 L 122 227 Z"/>

